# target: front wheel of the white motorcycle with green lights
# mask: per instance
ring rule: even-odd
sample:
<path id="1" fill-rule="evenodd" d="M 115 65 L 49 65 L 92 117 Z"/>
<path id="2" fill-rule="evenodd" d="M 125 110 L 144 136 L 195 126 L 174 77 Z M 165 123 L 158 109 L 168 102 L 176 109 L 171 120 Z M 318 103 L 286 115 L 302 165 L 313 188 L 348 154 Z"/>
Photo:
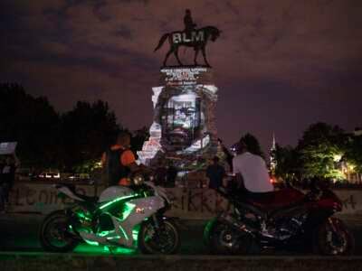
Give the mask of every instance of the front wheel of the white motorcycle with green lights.
<path id="1" fill-rule="evenodd" d="M 139 229 L 138 248 L 145 254 L 175 254 L 180 247 L 176 224 L 163 220 L 156 229 L 153 220 L 144 221 Z"/>

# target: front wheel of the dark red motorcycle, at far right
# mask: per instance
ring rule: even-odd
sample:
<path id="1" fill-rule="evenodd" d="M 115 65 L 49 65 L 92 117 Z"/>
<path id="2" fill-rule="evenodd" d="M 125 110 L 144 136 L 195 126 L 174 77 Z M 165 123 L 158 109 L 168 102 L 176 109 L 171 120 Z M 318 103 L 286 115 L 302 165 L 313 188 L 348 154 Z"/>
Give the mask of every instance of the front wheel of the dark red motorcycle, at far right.
<path id="1" fill-rule="evenodd" d="M 355 238 L 342 220 L 329 218 L 314 235 L 314 250 L 322 255 L 352 255 Z"/>

